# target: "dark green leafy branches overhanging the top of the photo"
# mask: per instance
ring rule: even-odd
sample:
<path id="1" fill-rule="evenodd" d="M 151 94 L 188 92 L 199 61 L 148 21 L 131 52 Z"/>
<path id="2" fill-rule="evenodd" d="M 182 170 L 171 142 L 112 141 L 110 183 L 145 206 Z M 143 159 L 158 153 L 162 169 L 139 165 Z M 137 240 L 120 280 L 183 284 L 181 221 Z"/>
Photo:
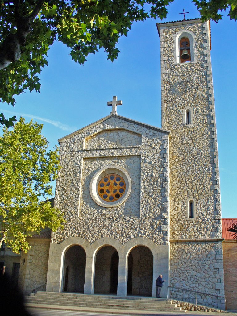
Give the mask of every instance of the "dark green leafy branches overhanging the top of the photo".
<path id="1" fill-rule="evenodd" d="M 39 77 L 55 40 L 67 45 L 73 60 L 83 64 L 88 54 L 104 48 L 117 58 L 117 43 L 134 21 L 165 18 L 174 0 L 0 0 L 0 100 L 14 106 L 14 95 L 40 90 Z M 193 0 L 204 19 L 221 19 L 228 9 L 236 19 L 237 0 Z M 146 10 L 145 8 L 149 8 Z M 12 126 L 0 114 L 0 124 Z"/>

